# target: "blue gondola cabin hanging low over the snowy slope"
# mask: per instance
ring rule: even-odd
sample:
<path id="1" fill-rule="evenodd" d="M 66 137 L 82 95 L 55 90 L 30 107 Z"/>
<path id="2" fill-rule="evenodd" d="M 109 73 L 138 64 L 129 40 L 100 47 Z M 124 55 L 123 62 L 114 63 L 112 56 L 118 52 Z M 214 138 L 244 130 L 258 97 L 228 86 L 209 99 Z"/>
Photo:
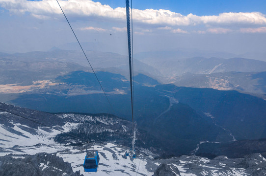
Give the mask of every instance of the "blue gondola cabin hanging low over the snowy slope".
<path id="1" fill-rule="evenodd" d="M 98 152 L 88 151 L 84 163 L 83 168 L 85 172 L 97 172 L 98 164 L 99 164 L 100 156 Z"/>

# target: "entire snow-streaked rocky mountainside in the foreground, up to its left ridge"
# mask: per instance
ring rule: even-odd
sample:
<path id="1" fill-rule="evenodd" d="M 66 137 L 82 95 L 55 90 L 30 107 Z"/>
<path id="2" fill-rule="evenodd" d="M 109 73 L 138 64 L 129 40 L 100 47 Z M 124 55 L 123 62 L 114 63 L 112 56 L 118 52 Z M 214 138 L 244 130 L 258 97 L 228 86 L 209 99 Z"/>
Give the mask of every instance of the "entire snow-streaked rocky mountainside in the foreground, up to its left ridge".
<path id="1" fill-rule="evenodd" d="M 4 103 L 0 104 L 0 108 L 51 125 L 64 132 L 73 132 L 84 122 L 90 124 L 91 128 L 86 129 L 90 135 L 93 132 L 100 136 L 103 132 L 110 132 L 110 135 L 115 134 L 116 130 L 126 133 L 130 131 L 130 127 L 127 127 L 129 121 L 107 114 L 50 114 Z M 130 147 L 120 145 L 119 141 L 117 143 L 115 140 L 76 146 L 66 144 L 67 142 L 56 143 L 54 137 L 61 132 L 3 110 L 0 110 L 1 176 L 22 176 L 25 173 L 30 176 L 261 176 L 266 174 L 266 159 L 261 154 L 250 154 L 235 159 L 226 156 L 208 159 L 195 155 L 161 159 L 156 152 L 136 146 L 137 157 L 133 159 L 131 155 L 126 156 L 126 153 L 130 153 Z M 100 155 L 97 173 L 83 171 L 86 149 L 96 150 Z"/>

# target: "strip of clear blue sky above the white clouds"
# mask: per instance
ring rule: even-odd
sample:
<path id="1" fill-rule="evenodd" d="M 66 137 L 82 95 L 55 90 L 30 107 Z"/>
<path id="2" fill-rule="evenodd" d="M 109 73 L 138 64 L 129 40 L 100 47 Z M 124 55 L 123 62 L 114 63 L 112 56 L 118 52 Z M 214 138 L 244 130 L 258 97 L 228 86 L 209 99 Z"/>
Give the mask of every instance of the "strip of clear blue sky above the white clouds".
<path id="1" fill-rule="evenodd" d="M 98 0 L 113 8 L 125 6 L 125 0 Z M 218 15 L 223 12 L 262 12 L 266 0 L 133 0 L 133 8 L 167 9 L 184 15 Z"/>

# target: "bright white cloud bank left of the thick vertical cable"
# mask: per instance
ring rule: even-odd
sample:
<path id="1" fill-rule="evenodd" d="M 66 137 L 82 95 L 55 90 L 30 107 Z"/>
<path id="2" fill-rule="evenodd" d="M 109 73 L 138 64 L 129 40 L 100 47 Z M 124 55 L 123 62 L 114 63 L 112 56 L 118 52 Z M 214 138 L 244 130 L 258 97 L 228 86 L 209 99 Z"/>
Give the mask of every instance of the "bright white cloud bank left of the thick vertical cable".
<path id="1" fill-rule="evenodd" d="M 125 18 L 125 8 L 111 8 L 92 0 L 58 0 L 66 15 Z M 30 12 L 33 15 L 51 16 L 62 14 L 56 0 L 0 0 L 0 6 L 11 13 Z"/>

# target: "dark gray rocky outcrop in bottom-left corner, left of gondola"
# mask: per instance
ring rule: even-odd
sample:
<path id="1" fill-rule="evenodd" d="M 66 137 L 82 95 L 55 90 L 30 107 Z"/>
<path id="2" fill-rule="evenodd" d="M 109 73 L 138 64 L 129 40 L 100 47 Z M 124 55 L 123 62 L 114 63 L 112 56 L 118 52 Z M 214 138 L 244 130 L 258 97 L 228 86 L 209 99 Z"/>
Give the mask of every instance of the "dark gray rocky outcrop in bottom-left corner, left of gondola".
<path id="1" fill-rule="evenodd" d="M 15 156 L 15 157 L 14 157 Z M 83 176 L 54 154 L 5 155 L 0 157 L 0 176 Z"/>

